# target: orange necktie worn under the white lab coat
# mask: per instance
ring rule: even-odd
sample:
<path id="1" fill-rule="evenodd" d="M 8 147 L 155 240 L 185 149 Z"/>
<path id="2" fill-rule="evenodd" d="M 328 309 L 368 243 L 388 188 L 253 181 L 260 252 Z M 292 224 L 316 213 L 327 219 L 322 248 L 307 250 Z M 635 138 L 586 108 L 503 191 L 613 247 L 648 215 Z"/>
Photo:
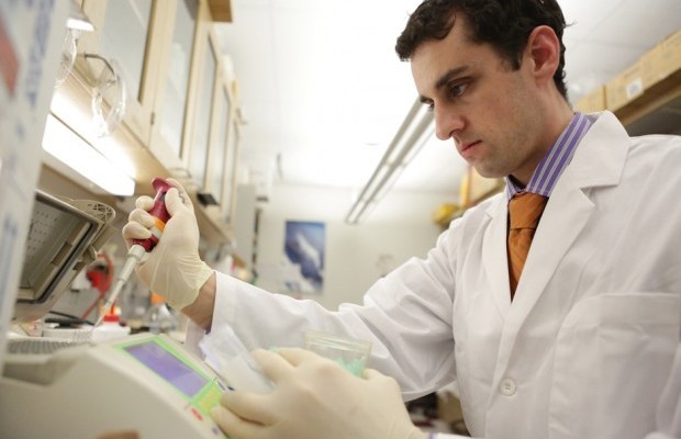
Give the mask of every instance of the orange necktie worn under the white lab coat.
<path id="1" fill-rule="evenodd" d="M 537 224 L 548 198 L 536 193 L 521 192 L 509 202 L 509 280 L 511 281 L 511 300 L 521 279 L 525 259 L 535 236 Z"/>

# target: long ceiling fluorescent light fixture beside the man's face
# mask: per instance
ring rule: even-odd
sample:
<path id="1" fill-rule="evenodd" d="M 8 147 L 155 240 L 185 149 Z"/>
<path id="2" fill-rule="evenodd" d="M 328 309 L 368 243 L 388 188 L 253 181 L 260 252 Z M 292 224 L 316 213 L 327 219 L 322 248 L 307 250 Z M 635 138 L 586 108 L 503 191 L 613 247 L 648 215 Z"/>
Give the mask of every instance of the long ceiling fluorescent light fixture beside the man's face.
<path id="1" fill-rule="evenodd" d="M 345 217 L 346 223 L 358 224 L 369 215 L 433 132 L 433 113 L 416 99 L 371 178 L 350 207 Z"/>

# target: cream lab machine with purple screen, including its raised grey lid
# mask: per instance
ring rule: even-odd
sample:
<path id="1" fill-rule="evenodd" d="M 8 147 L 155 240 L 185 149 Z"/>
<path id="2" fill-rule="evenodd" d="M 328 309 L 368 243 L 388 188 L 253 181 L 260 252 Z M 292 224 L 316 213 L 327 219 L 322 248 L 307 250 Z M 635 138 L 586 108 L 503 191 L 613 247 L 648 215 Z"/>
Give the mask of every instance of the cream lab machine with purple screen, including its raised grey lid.
<path id="1" fill-rule="evenodd" d="M 113 210 L 37 192 L 12 322 L 43 317 L 115 232 Z M 5 336 L 4 334 L 0 336 Z M 10 337 L 0 379 L 0 437 L 222 438 L 210 417 L 225 385 L 167 336 L 93 344 Z"/>

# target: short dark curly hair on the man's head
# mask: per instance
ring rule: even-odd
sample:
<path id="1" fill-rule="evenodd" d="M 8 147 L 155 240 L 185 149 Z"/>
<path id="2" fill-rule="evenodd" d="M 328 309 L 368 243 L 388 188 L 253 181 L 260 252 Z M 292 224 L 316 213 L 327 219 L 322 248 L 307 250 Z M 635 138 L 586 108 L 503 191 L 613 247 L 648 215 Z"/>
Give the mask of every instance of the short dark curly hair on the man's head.
<path id="1" fill-rule="evenodd" d="M 557 0 L 425 0 L 398 37 L 395 50 L 400 59 L 409 60 L 424 42 L 445 38 L 459 13 L 466 15 L 470 41 L 489 43 L 514 70 L 521 67 L 532 31 L 540 25 L 550 26 L 560 42 L 560 63 L 554 82 L 568 99 L 562 43 L 566 21 Z"/>

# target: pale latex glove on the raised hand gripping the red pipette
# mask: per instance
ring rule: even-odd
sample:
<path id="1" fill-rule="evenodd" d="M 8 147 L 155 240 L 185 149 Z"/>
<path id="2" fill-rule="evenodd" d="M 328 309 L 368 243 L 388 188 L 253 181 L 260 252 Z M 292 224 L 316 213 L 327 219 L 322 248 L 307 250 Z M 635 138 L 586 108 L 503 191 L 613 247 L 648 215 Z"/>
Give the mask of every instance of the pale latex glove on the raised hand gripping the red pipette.
<path id="1" fill-rule="evenodd" d="M 176 309 L 192 304 L 199 290 L 213 274 L 213 270 L 199 257 L 199 226 L 194 209 L 185 188 L 174 179 L 167 180 L 174 188 L 166 193 L 166 209 L 170 218 L 166 223 L 158 245 L 148 259 L 136 268 L 139 280 L 148 289 L 166 299 Z M 154 200 L 143 195 L 135 201 L 136 209 L 130 213 L 123 227 L 127 248 L 133 239 L 152 236 L 149 228 L 154 218 L 148 211 Z"/>

